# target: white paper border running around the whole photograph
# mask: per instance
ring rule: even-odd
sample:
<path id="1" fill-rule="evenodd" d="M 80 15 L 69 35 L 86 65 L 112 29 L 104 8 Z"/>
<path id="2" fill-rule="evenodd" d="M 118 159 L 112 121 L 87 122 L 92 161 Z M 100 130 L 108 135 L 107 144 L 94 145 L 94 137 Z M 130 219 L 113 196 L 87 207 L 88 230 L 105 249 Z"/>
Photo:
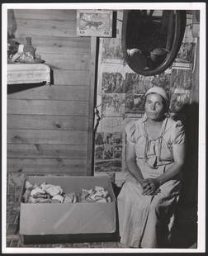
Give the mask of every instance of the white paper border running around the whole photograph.
<path id="1" fill-rule="evenodd" d="M 197 249 L 66 249 L 7 248 L 7 9 L 183 9 L 200 10 L 200 88 L 198 159 Z M 2 4 L 2 253 L 94 254 L 94 253 L 204 253 L 206 250 L 206 2 L 111 2 L 111 3 L 4 3 Z"/>

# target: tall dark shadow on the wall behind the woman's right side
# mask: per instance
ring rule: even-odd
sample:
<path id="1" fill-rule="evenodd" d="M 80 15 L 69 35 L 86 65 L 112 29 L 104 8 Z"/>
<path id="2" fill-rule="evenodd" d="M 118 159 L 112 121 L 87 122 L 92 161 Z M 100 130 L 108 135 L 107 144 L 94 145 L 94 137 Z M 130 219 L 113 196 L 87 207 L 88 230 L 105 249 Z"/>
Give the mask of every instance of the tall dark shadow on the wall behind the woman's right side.
<path id="1" fill-rule="evenodd" d="M 186 161 L 182 195 L 178 203 L 173 226 L 172 247 L 190 248 L 197 242 L 197 183 L 198 183 L 198 131 L 199 106 L 192 102 L 177 113 L 186 133 Z M 183 116 L 183 117 L 180 117 Z"/>

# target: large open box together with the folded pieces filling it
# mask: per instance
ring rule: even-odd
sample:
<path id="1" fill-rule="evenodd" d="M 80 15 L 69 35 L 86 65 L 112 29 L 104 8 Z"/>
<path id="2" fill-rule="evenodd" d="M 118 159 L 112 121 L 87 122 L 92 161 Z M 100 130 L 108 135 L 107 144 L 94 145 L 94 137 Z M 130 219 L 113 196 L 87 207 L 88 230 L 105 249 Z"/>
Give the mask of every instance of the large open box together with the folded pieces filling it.
<path id="1" fill-rule="evenodd" d="M 20 235 L 82 235 L 116 232 L 111 179 L 27 176 L 21 195 Z"/>

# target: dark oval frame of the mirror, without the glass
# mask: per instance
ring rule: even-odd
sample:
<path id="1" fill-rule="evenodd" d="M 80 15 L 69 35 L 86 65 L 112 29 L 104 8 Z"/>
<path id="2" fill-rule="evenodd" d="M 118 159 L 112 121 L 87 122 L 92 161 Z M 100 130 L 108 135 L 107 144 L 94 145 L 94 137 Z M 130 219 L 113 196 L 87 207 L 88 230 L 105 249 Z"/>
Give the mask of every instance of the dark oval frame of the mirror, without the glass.
<path id="1" fill-rule="evenodd" d="M 123 12 L 121 45 L 122 45 L 122 51 L 123 51 L 125 62 L 130 66 L 130 69 L 132 69 L 135 73 L 139 73 L 144 76 L 153 76 L 158 73 L 162 73 L 164 70 L 168 69 L 168 67 L 171 64 L 173 64 L 173 61 L 176 58 L 177 53 L 182 45 L 182 39 L 186 29 L 186 24 L 187 24 L 187 13 L 185 10 L 180 10 L 180 11 L 172 10 L 172 12 L 174 12 L 176 16 L 172 50 L 170 51 L 170 53 L 168 53 L 163 63 L 159 64 L 156 69 L 142 70 L 142 69 L 139 69 L 137 66 L 135 66 L 135 64 L 132 63 L 130 56 L 127 55 L 126 30 L 128 26 L 127 24 L 128 16 L 131 11 L 134 11 L 134 10 L 128 10 L 128 11 L 124 10 Z"/>

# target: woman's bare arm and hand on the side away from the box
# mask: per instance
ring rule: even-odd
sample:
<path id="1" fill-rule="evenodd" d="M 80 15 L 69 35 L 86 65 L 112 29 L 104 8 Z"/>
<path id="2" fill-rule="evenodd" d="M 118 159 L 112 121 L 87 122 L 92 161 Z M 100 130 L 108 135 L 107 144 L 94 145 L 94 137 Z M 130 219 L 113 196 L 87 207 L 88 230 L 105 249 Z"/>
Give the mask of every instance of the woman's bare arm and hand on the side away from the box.
<path id="1" fill-rule="evenodd" d="M 152 195 L 154 191 L 163 183 L 175 178 L 178 173 L 181 173 L 185 159 L 185 145 L 173 145 L 173 159 L 174 164 L 171 168 L 160 175 L 158 178 L 148 178 L 144 181 L 149 187 L 144 189 L 144 195 Z"/>

